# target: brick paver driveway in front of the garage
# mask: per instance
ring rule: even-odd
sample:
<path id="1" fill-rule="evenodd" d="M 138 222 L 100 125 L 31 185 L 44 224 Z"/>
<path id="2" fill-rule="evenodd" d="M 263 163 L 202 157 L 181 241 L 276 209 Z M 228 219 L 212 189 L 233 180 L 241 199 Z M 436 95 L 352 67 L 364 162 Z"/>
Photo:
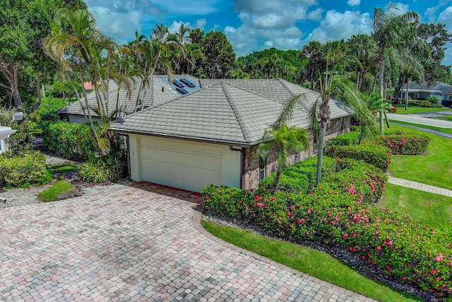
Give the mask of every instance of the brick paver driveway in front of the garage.
<path id="1" fill-rule="evenodd" d="M 196 194 L 148 183 L 0 210 L 4 301 L 371 301 L 202 230 Z"/>

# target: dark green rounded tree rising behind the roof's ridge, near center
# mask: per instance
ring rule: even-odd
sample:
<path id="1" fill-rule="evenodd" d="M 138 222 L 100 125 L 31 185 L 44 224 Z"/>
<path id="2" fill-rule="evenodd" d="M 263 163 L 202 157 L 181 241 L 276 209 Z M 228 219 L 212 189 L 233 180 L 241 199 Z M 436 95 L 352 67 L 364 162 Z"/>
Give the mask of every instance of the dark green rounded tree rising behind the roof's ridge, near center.
<path id="1" fill-rule="evenodd" d="M 224 33 L 210 31 L 203 36 L 201 50 L 204 61 L 196 69 L 196 75 L 210 79 L 229 79 L 235 69 L 235 52 Z"/>

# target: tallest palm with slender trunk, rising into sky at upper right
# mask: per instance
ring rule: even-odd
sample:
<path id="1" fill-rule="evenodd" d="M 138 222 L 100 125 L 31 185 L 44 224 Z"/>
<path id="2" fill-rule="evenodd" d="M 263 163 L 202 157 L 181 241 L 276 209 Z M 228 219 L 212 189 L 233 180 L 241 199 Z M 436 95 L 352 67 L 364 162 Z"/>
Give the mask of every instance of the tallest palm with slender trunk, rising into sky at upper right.
<path id="1" fill-rule="evenodd" d="M 420 16 L 415 11 L 408 11 L 403 15 L 397 15 L 398 8 L 390 2 L 388 8 L 384 11 L 382 8 L 374 8 L 374 18 L 372 23 L 374 25 L 374 39 L 377 45 L 379 45 L 379 94 L 381 98 L 384 98 L 384 66 L 385 58 L 388 50 L 393 48 L 393 51 L 397 51 L 397 46 L 400 45 L 400 40 L 403 37 L 403 33 L 410 29 L 408 26 L 410 23 L 417 23 L 420 20 Z M 420 38 L 410 41 L 403 41 L 406 47 L 417 47 L 420 42 Z M 410 45 L 410 46 L 409 46 Z M 383 112 L 380 111 L 380 134 L 383 135 Z"/>

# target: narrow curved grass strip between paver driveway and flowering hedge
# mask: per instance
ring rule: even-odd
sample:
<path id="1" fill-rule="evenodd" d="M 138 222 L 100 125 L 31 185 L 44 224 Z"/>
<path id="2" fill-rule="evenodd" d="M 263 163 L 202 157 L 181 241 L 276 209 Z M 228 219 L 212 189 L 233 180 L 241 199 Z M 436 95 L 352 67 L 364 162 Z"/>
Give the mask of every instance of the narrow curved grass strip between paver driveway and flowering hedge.
<path id="1" fill-rule="evenodd" d="M 330 255 L 293 243 L 258 236 L 240 228 L 202 221 L 207 231 L 245 250 L 379 301 L 422 301 L 364 277 Z"/>

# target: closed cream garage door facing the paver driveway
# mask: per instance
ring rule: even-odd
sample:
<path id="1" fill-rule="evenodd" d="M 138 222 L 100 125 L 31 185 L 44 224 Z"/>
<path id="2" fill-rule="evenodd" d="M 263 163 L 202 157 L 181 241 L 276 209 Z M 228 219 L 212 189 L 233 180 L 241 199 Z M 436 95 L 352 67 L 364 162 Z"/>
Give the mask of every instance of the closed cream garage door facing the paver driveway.
<path id="1" fill-rule="evenodd" d="M 142 180 L 194 192 L 222 185 L 227 146 L 157 137 L 143 137 L 139 145 Z"/>

